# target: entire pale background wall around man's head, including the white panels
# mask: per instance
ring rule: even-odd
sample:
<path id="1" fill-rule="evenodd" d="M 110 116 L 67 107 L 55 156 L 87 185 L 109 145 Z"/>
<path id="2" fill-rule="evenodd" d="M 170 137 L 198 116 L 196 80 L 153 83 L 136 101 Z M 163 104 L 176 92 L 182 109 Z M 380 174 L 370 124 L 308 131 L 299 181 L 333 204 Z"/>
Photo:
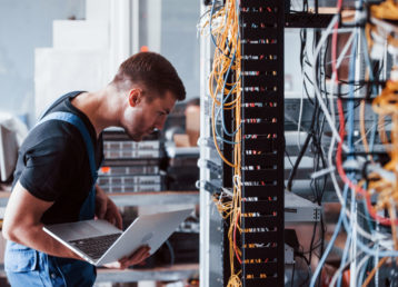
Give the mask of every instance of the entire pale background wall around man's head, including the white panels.
<path id="1" fill-rule="evenodd" d="M 125 27 L 112 21 L 118 19 L 115 11 L 123 10 L 126 4 L 132 9 L 136 4 L 146 7 L 158 1 L 151 0 L 143 6 L 145 0 L 0 0 L 0 111 L 26 113 L 29 126 L 32 126 L 44 106 L 61 93 L 76 89 L 94 90 L 107 83 L 115 71 L 113 66 L 120 63 L 118 53 L 125 49 L 121 46 L 126 32 L 130 39 L 125 42 L 130 47 L 123 53 L 137 51 L 141 46 L 137 44 L 137 39 L 142 40 L 142 32 L 139 37 L 138 32 L 133 36 L 137 29 L 131 23 L 137 21 L 130 21 L 125 36 L 115 39 L 115 31 L 120 30 L 118 26 Z M 187 97 L 197 97 L 199 2 L 161 0 L 158 8 L 158 21 L 151 21 L 153 9 L 146 11 L 151 18 L 147 21 L 152 26 L 156 23 L 157 29 L 146 31 L 152 37 L 145 36 L 148 42 L 142 44 L 153 46 L 152 50 L 168 58 L 182 78 Z M 68 21 L 68 18 L 77 21 Z M 151 28 L 143 22 L 140 14 L 139 26 Z M 38 50 L 34 52 L 34 49 Z M 73 55 L 72 50 L 82 52 Z M 107 52 L 110 53 L 108 57 Z"/>

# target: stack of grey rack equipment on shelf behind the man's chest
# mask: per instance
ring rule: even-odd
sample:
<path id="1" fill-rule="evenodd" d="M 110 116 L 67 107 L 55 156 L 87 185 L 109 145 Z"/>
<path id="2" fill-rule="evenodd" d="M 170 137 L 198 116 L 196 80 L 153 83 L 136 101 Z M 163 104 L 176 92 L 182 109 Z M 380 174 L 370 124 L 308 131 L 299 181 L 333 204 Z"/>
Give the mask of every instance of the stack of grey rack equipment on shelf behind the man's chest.
<path id="1" fill-rule="evenodd" d="M 159 164 L 163 154 L 159 137 L 136 142 L 120 129 L 106 130 L 105 161 L 97 182 L 106 192 L 161 191 L 165 179 Z"/>

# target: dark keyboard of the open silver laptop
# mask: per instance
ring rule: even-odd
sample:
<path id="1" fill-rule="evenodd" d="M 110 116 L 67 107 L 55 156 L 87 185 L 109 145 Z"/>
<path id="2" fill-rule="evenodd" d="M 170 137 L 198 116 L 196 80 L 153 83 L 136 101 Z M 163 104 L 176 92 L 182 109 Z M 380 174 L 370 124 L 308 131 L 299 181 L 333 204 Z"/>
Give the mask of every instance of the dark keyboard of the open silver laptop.
<path id="1" fill-rule="evenodd" d="M 103 235 L 69 241 L 92 259 L 99 259 L 121 234 Z"/>

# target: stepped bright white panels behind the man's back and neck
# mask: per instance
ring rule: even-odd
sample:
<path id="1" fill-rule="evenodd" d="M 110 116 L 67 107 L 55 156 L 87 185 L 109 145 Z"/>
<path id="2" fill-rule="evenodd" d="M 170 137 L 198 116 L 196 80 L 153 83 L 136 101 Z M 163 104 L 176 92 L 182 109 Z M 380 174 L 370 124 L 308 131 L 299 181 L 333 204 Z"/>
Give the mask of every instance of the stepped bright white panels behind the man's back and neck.
<path id="1" fill-rule="evenodd" d="M 113 47 L 123 38 L 119 27 L 113 29 L 120 21 L 115 8 L 126 1 L 87 0 L 84 20 L 53 21 L 52 44 L 36 49 L 36 118 L 63 93 L 99 90 L 111 80 L 110 55 L 119 55 Z"/>

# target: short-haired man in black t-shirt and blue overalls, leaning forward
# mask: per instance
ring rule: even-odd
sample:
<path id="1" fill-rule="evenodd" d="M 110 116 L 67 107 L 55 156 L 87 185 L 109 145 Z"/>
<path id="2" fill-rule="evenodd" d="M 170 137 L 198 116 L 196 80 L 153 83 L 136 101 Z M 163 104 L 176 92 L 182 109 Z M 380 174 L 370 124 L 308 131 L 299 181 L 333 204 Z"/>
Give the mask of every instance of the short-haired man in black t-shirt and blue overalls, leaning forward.
<path id="1" fill-rule="evenodd" d="M 92 286 L 96 268 L 47 235 L 48 224 L 105 218 L 121 228 L 115 204 L 94 185 L 105 128 L 122 127 L 136 141 L 163 127 L 186 91 L 163 57 L 142 52 L 126 60 L 115 79 L 96 92 L 57 100 L 19 151 L 2 234 L 4 268 L 12 286 Z M 113 266 L 149 256 L 142 247 Z"/>

